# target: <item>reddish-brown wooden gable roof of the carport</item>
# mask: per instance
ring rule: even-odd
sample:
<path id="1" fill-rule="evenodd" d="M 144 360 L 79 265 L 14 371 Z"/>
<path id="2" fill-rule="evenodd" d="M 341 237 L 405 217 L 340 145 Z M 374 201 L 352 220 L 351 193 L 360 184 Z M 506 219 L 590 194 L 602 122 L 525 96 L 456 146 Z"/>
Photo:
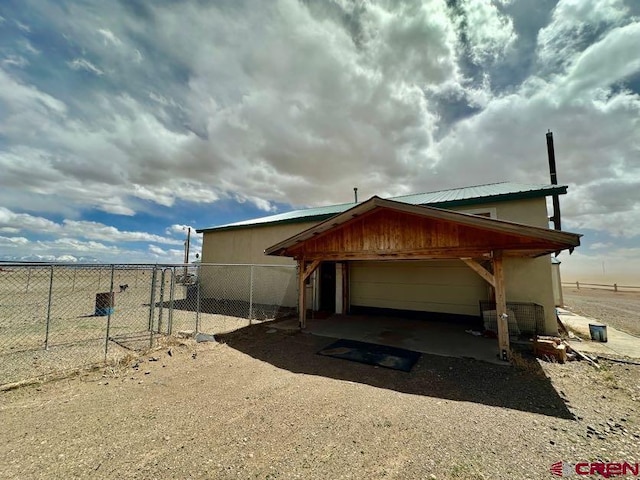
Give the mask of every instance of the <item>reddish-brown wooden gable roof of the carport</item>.
<path id="1" fill-rule="evenodd" d="M 580 245 L 576 233 L 372 197 L 265 250 L 305 260 L 538 257 Z"/>

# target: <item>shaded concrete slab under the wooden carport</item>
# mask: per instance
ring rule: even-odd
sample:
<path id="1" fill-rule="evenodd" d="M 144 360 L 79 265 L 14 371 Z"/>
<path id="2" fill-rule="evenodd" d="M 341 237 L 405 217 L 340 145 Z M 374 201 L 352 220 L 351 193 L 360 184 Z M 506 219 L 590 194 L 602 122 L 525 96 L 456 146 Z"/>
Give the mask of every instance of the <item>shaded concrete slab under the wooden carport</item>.
<path id="1" fill-rule="evenodd" d="M 297 320 L 285 320 L 273 328 L 291 330 Z M 331 338 L 406 348 L 416 352 L 446 357 L 474 358 L 497 365 L 509 365 L 498 359 L 496 339 L 465 332 L 463 325 L 410 320 L 397 317 L 332 315 L 324 319 L 307 319 L 306 332 Z"/>

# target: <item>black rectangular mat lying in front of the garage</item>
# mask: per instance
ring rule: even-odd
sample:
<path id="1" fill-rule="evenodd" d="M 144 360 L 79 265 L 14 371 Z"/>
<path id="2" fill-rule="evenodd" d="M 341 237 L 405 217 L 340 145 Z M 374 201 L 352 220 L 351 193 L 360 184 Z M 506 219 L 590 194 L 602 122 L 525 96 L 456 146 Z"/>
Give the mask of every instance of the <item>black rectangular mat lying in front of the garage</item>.
<path id="1" fill-rule="evenodd" d="M 422 355 L 419 352 L 412 352 L 404 348 L 344 339 L 324 347 L 318 354 L 368 365 L 378 365 L 403 372 L 410 372 L 420 355 Z"/>

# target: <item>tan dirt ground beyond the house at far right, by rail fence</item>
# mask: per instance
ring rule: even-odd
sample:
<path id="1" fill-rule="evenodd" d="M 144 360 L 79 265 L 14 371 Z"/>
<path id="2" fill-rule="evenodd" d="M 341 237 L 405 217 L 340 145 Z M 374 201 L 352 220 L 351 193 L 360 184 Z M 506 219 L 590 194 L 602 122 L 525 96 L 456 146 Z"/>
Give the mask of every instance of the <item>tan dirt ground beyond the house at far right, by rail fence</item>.
<path id="1" fill-rule="evenodd" d="M 640 292 L 563 288 L 565 308 L 640 336 Z"/>

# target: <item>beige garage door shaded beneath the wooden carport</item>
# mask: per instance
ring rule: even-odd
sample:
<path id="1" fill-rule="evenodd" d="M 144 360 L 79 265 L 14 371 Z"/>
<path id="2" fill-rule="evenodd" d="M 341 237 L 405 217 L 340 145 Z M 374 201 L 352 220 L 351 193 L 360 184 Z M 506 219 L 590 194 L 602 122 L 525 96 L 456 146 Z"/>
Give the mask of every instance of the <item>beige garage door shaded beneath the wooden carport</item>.
<path id="1" fill-rule="evenodd" d="M 351 262 L 349 275 L 356 307 L 478 315 L 489 293 L 460 260 Z"/>

